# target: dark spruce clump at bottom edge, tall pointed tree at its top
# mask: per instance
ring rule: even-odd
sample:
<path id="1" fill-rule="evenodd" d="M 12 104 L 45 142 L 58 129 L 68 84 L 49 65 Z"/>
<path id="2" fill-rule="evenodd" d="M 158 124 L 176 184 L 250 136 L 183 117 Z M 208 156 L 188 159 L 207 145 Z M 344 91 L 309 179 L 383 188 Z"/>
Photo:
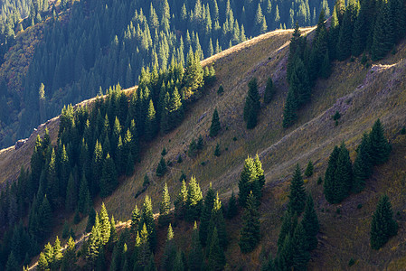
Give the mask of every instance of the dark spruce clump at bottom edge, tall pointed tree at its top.
<path id="1" fill-rule="evenodd" d="M 298 164 L 288 197 L 288 210 L 279 232 L 277 256 L 275 259 L 269 256 L 263 270 L 306 270 L 309 252 L 317 248 L 316 235 L 320 226 L 313 198 L 305 191 Z"/>

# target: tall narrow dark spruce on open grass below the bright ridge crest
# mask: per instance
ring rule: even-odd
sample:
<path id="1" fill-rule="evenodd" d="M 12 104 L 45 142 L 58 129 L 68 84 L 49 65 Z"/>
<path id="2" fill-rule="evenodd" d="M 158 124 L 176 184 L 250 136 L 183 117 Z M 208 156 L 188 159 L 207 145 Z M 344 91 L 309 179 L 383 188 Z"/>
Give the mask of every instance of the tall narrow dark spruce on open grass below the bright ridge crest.
<path id="1" fill-rule="evenodd" d="M 253 129 L 257 126 L 258 114 L 260 113 L 260 93 L 256 78 L 250 79 L 248 88 L 244 106 L 244 121 L 247 123 L 247 129 Z"/>

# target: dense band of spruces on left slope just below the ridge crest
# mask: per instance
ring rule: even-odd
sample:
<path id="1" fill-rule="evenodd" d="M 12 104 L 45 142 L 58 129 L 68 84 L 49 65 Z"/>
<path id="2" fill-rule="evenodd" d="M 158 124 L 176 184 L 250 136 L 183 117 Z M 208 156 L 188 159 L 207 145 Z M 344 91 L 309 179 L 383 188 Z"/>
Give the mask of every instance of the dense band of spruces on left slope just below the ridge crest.
<path id="1" fill-rule="evenodd" d="M 204 72 L 193 59 L 191 53 L 185 69 L 174 62 L 170 70 L 143 71 L 140 86 L 130 97 L 118 85 L 109 89 L 106 98 L 97 98 L 91 110 L 63 107 L 56 146 L 51 145 L 47 130 L 43 138 L 38 135 L 31 173 L 23 168 L 19 181 L 0 195 L 0 226 L 8 222 L 12 231 L 28 212 L 28 226 L 23 229 L 30 246 L 14 251 L 19 262 L 26 253 L 33 257 L 51 233 L 53 211 L 76 211 L 79 222 L 90 213 L 94 197 L 109 196 L 118 186 L 118 176 L 134 172 L 140 140 L 151 140 L 159 130 L 165 133 L 182 121 L 188 99 L 214 79 L 212 68 Z M 182 97 L 177 88 L 182 89 Z M 4 244 L 3 263 L 13 251 L 10 240 Z"/>

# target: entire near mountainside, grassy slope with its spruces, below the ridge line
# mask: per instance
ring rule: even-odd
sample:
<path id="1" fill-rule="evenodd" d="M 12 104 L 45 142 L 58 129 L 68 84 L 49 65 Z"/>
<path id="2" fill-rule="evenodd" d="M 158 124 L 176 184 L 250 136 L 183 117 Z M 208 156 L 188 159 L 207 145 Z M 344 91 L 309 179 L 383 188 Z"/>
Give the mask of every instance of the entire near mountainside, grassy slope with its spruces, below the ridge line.
<path id="1" fill-rule="evenodd" d="M 64 107 L 33 153 L 0 152 L 32 153 L 0 195 L 0 264 L 401 269 L 405 7 L 338 1 L 329 27 L 192 49 Z"/>

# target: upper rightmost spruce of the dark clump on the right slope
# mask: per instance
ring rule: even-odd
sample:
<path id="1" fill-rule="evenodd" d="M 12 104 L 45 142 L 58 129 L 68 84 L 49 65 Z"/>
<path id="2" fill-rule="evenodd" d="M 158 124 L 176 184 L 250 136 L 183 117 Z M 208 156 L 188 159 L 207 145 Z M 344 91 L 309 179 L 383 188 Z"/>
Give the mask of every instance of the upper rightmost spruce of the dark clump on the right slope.
<path id="1" fill-rule="evenodd" d="M 383 164 L 391 153 L 391 145 L 385 138 L 381 120 L 378 118 L 373 124 L 373 129 L 369 135 L 371 142 L 371 160 L 373 164 Z"/>

